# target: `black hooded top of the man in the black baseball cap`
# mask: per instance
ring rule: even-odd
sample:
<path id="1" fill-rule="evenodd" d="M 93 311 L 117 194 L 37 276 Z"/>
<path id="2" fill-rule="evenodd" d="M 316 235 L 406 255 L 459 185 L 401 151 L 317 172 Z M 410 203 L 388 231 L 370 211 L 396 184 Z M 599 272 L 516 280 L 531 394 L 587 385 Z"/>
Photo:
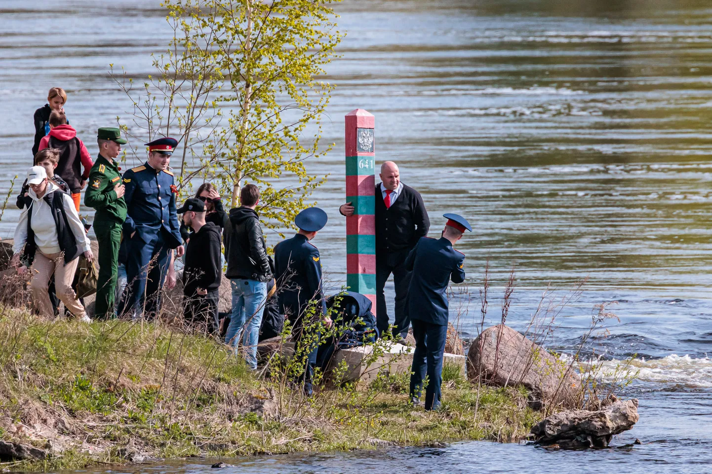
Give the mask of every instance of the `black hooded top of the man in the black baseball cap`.
<path id="1" fill-rule="evenodd" d="M 197 288 L 208 290 L 208 293 L 217 290 L 221 270 L 220 228 L 209 222 L 192 234 L 185 251 L 183 294 L 193 296 Z"/>

